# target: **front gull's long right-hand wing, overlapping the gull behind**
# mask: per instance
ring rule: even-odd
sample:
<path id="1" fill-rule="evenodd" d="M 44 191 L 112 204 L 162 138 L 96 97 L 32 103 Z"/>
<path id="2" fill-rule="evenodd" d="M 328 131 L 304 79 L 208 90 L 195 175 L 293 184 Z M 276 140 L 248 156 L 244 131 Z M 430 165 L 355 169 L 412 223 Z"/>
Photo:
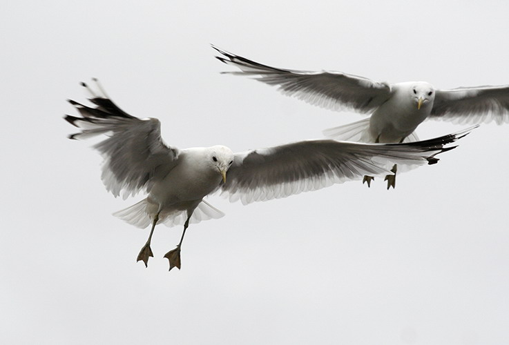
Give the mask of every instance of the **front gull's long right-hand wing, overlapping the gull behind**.
<path id="1" fill-rule="evenodd" d="M 358 144 L 311 140 L 249 150 L 235 155 L 222 193 L 243 204 L 317 190 L 364 175 L 392 175 L 385 167 L 434 164 L 434 158 L 472 128 L 426 141 L 407 144 Z"/>

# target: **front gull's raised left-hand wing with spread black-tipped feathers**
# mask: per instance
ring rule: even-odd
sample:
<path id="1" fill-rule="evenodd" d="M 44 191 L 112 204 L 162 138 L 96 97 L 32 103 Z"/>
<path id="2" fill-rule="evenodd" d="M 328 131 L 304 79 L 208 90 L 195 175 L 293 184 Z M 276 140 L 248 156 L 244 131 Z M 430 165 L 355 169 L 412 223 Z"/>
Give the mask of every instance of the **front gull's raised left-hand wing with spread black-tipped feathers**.
<path id="1" fill-rule="evenodd" d="M 95 135 L 108 137 L 94 146 L 104 157 L 102 181 L 115 197 L 122 192 L 124 199 L 142 189 L 151 189 L 175 166 L 179 150 L 166 146 L 161 138 L 158 119 L 138 119 L 120 109 L 97 84 L 96 95 L 86 83 L 81 83 L 92 95 L 95 107 L 69 100 L 81 117 L 66 115 L 64 119 L 81 129 L 70 139 L 86 139 Z"/>

